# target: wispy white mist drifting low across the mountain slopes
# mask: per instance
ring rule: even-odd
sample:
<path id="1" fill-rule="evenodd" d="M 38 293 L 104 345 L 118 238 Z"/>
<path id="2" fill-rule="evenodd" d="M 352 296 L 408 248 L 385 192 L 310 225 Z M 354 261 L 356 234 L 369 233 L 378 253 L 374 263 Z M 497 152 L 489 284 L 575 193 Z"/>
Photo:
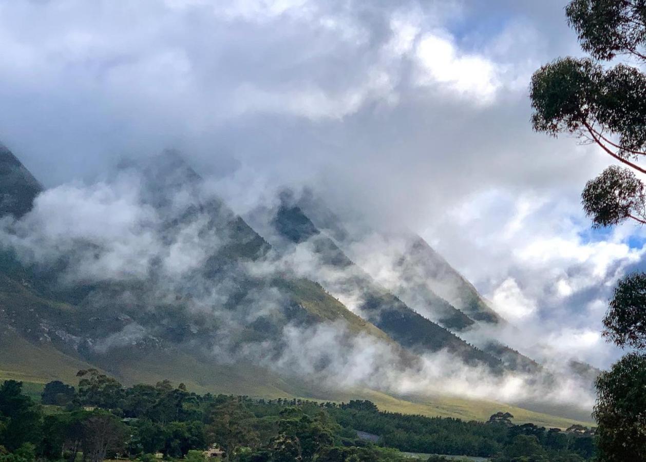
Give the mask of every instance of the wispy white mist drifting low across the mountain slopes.
<path id="1" fill-rule="evenodd" d="M 15 251 L 26 265 L 61 269 L 57 284 L 63 286 L 145 284 L 143 291 L 135 293 L 129 286 L 119 285 L 112 286 L 109 297 L 101 295 L 100 290 L 90 293 L 82 307 L 114 308 L 123 303 L 155 311 L 181 297 L 181 304 L 174 309 L 191 313 L 182 322 L 189 322 L 187 329 L 198 335 L 184 341 L 197 342 L 196 348 L 227 364 L 251 361 L 329 388 L 373 388 L 419 397 L 450 394 L 517 404 L 576 403 L 584 410 L 592 404 L 590 384 L 572 375 L 567 364 L 550 366 L 549 375 L 537 375 L 494 374 L 485 366 L 464 364 L 446 351 L 402 361 L 406 353 L 401 347 L 367 332 L 350 331 L 342 320 L 309 325 L 287 322 L 264 339 L 249 339 L 245 337 L 249 326 L 281 317 L 289 299 L 280 289 L 262 284 L 241 295 L 240 284 L 245 278 L 310 278 L 362 315 L 362 294 L 356 280 L 366 274 L 357 267 L 340 269 L 322 262 L 313 241 L 293 246 L 283 243 L 281 247 L 278 236 L 269 236 L 276 246 L 265 257 L 236 262 L 224 275 L 209 277 L 202 271 L 206 261 L 231 237 L 218 231 L 213 219 L 231 219 L 230 213 L 216 208 L 220 215 L 213 216 L 214 209 L 202 208 L 220 202 L 204 193 L 208 187 L 201 182 L 183 186 L 173 183 L 167 191 L 160 191 L 156 185 L 147 189 L 145 185 L 146 176 L 125 170 L 98 184 L 49 189 L 36 198 L 34 209 L 20 220 L 3 218 L 0 243 L 5 250 Z M 194 212 L 187 214 L 190 210 Z M 271 213 L 267 211 L 266 216 Z M 360 248 L 358 244 L 353 248 L 355 257 L 359 257 Z M 369 257 L 367 253 L 359 260 Z M 62 267 L 61 261 L 65 262 Z M 377 280 L 383 282 L 384 278 L 377 275 Z M 426 315 L 432 317 L 432 313 Z M 203 331 L 200 318 L 215 326 L 207 339 L 199 337 Z M 142 325 L 124 319 L 125 326 L 120 330 L 89 339 L 93 352 L 109 354 L 114 348 L 147 340 L 159 342 L 163 329 L 173 322 Z M 65 340 L 66 335 L 59 337 Z M 75 338 L 74 344 L 78 343 Z"/>

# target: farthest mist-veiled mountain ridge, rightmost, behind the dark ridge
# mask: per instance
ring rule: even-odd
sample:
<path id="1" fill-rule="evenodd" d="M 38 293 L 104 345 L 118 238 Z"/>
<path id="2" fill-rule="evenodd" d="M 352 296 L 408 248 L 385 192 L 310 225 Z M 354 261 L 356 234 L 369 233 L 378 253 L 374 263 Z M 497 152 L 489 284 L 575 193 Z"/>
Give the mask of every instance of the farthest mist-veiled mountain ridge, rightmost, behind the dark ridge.
<path id="1" fill-rule="evenodd" d="M 311 189 L 304 189 L 298 198 L 292 192 L 283 193 L 283 197 L 288 202 L 297 204 L 311 218 L 312 224 L 306 224 L 305 220 L 300 219 L 300 226 L 304 230 L 316 229 L 316 233 L 329 236 L 337 247 L 349 251 L 360 244 L 360 251 L 358 254 L 355 252 L 355 255 L 364 260 L 368 268 L 377 268 L 377 282 L 384 284 L 388 291 L 412 310 L 457 335 L 484 327 L 485 330 L 477 335 L 479 343 L 476 346 L 498 359 L 505 370 L 536 375 L 543 383 L 555 381 L 554 376 L 537 361 L 502 344 L 495 337 L 495 330 L 492 328 L 513 326 L 509 326 L 506 320 L 495 313 L 477 289 L 421 236 L 409 231 L 379 233 L 370 226 L 355 226 L 353 232 L 350 232 L 339 216 Z M 380 262 L 380 265 L 371 264 L 371 258 Z M 386 277 L 381 277 L 382 273 Z M 440 293 L 442 296 L 438 295 Z M 461 309 L 455 308 L 456 306 Z M 599 373 L 589 364 L 576 361 L 571 362 L 567 370 L 589 388 L 594 386 Z"/>

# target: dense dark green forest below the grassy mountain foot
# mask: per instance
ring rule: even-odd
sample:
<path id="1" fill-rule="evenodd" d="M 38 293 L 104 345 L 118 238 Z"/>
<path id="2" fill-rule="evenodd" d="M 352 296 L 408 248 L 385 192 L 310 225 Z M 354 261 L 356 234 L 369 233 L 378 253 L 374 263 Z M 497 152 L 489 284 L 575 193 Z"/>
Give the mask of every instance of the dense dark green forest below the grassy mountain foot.
<path id="1" fill-rule="evenodd" d="M 41 403 L 22 383 L 0 386 L 0 461 L 400 461 L 404 452 L 493 457 L 510 461 L 585 461 L 594 456 L 585 428 L 561 431 L 490 421 L 380 412 L 370 401 L 318 403 L 199 395 L 183 384 L 126 388 L 98 370 L 78 386 L 48 383 Z M 362 432 L 359 436 L 357 432 Z M 430 461 L 437 456 L 422 456 Z"/>

